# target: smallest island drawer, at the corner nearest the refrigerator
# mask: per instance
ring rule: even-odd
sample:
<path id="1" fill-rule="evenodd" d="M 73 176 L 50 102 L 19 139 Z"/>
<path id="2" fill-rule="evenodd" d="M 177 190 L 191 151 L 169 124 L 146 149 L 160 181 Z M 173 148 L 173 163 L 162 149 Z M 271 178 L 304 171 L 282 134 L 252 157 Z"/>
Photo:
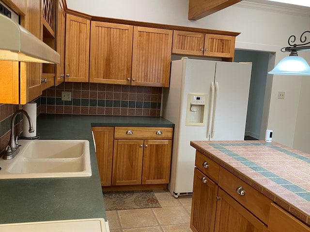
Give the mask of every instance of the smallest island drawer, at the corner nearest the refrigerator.
<path id="1" fill-rule="evenodd" d="M 214 180 L 218 181 L 219 164 L 207 158 L 199 151 L 196 151 L 195 166 L 202 171 L 203 174 Z"/>

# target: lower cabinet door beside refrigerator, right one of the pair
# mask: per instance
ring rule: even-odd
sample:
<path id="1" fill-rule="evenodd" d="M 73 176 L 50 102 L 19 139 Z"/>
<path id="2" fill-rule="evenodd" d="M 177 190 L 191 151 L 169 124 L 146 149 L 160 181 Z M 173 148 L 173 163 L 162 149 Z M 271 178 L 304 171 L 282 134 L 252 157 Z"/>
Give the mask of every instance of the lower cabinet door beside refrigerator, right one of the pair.
<path id="1" fill-rule="evenodd" d="M 144 140 L 142 184 L 168 184 L 171 140 Z"/>

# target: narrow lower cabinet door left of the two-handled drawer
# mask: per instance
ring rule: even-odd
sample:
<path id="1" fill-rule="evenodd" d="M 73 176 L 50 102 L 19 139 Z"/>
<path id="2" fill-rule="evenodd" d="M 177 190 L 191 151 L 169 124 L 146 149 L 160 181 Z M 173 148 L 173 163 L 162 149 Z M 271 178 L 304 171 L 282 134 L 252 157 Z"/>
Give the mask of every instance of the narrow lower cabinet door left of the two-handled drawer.
<path id="1" fill-rule="evenodd" d="M 101 186 L 111 186 L 114 127 L 92 127 Z"/>

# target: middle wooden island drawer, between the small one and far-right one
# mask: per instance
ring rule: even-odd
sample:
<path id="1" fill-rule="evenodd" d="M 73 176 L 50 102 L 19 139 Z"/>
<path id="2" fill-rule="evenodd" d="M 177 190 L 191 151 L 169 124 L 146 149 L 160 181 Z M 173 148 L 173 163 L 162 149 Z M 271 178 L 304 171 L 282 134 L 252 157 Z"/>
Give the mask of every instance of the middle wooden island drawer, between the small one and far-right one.
<path id="1" fill-rule="evenodd" d="M 218 186 L 268 225 L 272 203 L 269 198 L 222 167 L 219 168 Z M 239 187 L 244 189 L 244 195 L 237 193 Z"/>

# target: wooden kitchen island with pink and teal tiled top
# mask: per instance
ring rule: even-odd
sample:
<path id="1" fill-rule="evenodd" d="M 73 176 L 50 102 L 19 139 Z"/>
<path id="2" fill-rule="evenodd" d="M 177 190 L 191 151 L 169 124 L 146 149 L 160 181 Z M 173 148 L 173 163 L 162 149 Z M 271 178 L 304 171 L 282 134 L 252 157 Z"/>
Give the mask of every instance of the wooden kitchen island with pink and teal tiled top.
<path id="1" fill-rule="evenodd" d="M 264 141 L 190 145 L 196 148 L 193 231 L 310 231 L 309 154 Z"/>

